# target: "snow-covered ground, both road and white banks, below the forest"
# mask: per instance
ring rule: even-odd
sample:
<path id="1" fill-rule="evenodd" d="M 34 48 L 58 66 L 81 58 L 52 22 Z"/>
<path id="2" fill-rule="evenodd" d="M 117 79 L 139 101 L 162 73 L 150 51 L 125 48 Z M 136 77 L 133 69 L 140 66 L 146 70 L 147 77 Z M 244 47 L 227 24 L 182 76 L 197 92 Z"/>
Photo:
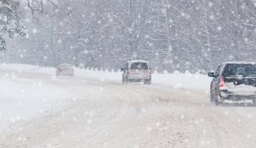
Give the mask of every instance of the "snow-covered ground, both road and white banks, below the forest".
<path id="1" fill-rule="evenodd" d="M 0 120 L 16 125 L 0 131 L 0 147 L 256 147 L 255 107 L 211 106 L 206 75 L 155 73 L 152 85 L 123 85 L 121 73 L 54 74 L 0 66 Z"/>

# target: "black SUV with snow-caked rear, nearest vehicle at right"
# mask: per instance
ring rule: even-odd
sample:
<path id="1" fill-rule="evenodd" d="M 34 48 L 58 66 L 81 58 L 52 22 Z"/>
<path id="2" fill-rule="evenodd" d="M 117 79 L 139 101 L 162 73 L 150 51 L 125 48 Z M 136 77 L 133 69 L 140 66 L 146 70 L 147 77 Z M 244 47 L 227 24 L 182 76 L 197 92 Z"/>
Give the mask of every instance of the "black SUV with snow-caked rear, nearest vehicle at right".
<path id="1" fill-rule="evenodd" d="M 208 73 L 211 81 L 211 103 L 225 100 L 252 100 L 256 106 L 256 62 L 226 62 L 215 73 Z"/>

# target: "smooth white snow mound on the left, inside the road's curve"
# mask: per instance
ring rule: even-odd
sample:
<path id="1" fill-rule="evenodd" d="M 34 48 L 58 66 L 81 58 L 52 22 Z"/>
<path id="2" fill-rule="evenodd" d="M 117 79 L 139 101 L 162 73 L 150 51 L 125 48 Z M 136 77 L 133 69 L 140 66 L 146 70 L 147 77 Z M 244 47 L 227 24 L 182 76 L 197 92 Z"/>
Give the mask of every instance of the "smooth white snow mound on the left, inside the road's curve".
<path id="1" fill-rule="evenodd" d="M 68 92 L 54 84 L 28 78 L 0 75 L 0 129 L 19 120 L 27 120 L 46 110 L 56 109 L 68 98 Z"/>

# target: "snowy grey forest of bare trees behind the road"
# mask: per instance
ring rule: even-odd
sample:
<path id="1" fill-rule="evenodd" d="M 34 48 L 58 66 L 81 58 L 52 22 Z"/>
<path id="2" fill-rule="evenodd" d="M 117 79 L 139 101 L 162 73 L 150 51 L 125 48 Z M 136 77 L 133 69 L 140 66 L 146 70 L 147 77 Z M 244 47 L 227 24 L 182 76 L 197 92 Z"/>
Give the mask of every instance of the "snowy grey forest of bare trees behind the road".
<path id="1" fill-rule="evenodd" d="M 1 0 L 0 61 L 206 73 L 256 61 L 255 0 Z"/>

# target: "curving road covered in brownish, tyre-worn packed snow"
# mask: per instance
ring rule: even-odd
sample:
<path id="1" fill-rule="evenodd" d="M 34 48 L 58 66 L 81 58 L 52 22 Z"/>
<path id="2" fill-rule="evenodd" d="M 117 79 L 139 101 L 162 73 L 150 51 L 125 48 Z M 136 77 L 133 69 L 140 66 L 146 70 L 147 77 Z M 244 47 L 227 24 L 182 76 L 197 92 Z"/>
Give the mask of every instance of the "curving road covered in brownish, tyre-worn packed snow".
<path id="1" fill-rule="evenodd" d="M 42 82 L 56 91 L 48 98 L 69 105 L 16 122 L 0 132 L 0 147 L 256 147 L 256 108 L 213 107 L 205 90 L 19 70 L 16 78 Z"/>

